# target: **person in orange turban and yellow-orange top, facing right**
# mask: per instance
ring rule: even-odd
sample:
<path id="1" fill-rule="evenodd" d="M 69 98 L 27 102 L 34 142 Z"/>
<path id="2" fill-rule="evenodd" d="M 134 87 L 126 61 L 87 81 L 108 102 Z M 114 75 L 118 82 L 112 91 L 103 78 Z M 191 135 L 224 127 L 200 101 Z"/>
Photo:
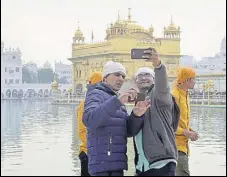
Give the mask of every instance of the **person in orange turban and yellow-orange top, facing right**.
<path id="1" fill-rule="evenodd" d="M 190 67 L 181 67 L 177 71 L 177 79 L 172 88 L 174 96 L 180 108 L 180 122 L 176 132 L 176 144 L 178 149 L 177 176 L 190 176 L 189 171 L 189 144 L 188 140 L 196 141 L 199 138 L 190 127 L 190 101 L 188 90 L 195 86 L 195 71 Z"/>

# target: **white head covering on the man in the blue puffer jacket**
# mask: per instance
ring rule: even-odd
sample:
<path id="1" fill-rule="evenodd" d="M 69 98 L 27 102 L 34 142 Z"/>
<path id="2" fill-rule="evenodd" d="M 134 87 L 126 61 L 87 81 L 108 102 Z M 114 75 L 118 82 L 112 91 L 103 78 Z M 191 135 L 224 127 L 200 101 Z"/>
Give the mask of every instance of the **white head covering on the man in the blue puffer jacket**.
<path id="1" fill-rule="evenodd" d="M 126 75 L 126 69 L 121 63 L 108 61 L 104 66 L 102 78 L 105 78 L 107 75 L 113 73 L 121 73 L 123 75 Z"/>

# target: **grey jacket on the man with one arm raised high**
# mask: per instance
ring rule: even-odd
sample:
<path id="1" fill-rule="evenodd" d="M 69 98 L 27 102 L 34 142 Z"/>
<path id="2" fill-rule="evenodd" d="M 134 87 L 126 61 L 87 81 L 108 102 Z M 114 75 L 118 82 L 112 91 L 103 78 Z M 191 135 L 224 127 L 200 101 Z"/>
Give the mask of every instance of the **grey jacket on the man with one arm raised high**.
<path id="1" fill-rule="evenodd" d="M 147 93 L 151 107 L 141 126 L 143 151 L 150 165 L 164 159 L 177 160 L 175 131 L 180 118 L 179 108 L 170 93 L 166 67 L 162 64 L 154 71 L 155 84 Z"/>

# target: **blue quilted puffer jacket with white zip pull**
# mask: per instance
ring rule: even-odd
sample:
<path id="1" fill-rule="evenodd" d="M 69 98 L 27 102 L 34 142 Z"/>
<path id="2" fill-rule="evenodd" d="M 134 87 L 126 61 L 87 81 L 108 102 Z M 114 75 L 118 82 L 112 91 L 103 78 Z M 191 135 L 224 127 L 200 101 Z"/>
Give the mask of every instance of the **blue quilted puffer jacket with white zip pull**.
<path id="1" fill-rule="evenodd" d="M 83 123 L 87 127 L 89 173 L 127 170 L 127 136 L 139 132 L 143 116 L 129 116 L 116 94 L 100 83 L 86 95 Z"/>

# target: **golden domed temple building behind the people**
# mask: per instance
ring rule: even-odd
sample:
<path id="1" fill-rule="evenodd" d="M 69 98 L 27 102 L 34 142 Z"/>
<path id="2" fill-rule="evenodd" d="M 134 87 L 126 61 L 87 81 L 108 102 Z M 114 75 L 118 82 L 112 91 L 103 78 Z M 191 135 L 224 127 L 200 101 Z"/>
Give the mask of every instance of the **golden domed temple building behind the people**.
<path id="1" fill-rule="evenodd" d="M 118 19 L 106 30 L 106 38 L 100 43 L 84 43 L 80 28 L 73 37 L 72 44 L 72 80 L 74 90 L 86 86 L 87 78 L 94 71 L 102 71 L 106 61 L 113 60 L 122 63 L 127 70 L 126 80 L 130 80 L 137 68 L 150 66 L 143 60 L 132 60 L 132 48 L 155 48 L 162 62 L 167 66 L 170 78 L 175 76 L 180 59 L 180 28 L 171 19 L 167 28 L 164 27 L 163 37 L 153 35 L 154 28 L 145 29 L 133 21 L 130 14 L 127 20 Z"/>

